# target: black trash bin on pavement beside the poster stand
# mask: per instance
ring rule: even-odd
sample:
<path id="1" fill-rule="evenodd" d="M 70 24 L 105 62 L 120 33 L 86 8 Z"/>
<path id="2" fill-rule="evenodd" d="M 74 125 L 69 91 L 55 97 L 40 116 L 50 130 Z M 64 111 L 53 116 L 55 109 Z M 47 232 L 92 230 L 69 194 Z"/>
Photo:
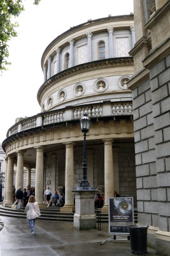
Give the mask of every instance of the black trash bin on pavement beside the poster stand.
<path id="1" fill-rule="evenodd" d="M 144 254 L 147 253 L 147 229 L 146 225 L 129 226 L 131 253 Z"/>

